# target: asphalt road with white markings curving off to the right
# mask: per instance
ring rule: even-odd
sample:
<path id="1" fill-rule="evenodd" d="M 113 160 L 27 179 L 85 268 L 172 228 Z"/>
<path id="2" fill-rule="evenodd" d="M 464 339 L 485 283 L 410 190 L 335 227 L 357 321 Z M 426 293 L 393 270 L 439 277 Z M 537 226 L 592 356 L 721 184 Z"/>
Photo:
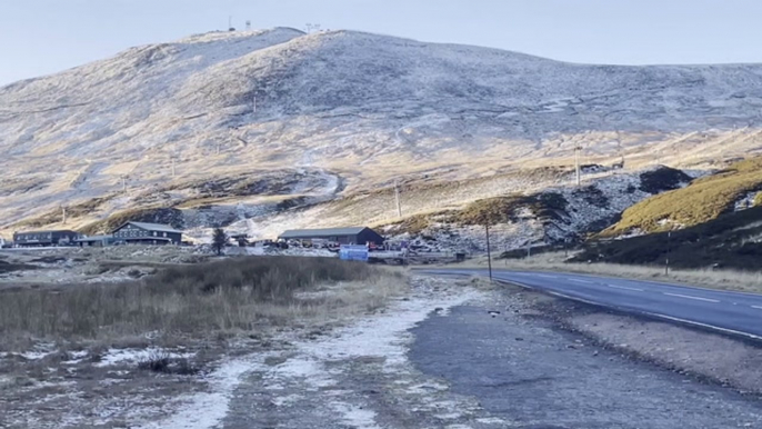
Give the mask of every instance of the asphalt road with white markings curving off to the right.
<path id="1" fill-rule="evenodd" d="M 479 269 L 425 272 L 487 275 Z M 560 272 L 493 270 L 493 277 L 620 311 L 762 339 L 762 295 Z"/>

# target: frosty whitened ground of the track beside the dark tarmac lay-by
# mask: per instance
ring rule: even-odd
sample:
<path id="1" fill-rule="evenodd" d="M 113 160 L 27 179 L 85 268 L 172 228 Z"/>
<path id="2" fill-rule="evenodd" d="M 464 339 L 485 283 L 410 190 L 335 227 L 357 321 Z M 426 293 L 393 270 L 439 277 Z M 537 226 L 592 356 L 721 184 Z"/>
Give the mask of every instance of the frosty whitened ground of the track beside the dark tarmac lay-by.
<path id="1" fill-rule="evenodd" d="M 399 411 L 410 418 L 427 413 L 455 423 L 478 413 L 478 403 L 449 393 L 445 383 L 412 367 L 408 330 L 482 297 L 467 282 L 417 279 L 410 298 L 379 315 L 224 365 L 212 375 L 214 391 L 186 398 L 177 415 L 144 428 L 381 428 L 389 423 L 383 407 L 393 403 L 388 401 L 404 401 Z"/>

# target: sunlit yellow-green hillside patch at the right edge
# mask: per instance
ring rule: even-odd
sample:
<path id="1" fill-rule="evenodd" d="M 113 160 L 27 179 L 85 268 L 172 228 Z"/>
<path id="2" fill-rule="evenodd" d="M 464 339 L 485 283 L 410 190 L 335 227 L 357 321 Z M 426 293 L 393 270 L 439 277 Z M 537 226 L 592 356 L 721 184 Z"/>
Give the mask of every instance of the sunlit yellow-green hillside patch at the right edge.
<path id="1" fill-rule="evenodd" d="M 624 210 L 622 219 L 602 235 L 619 236 L 633 229 L 655 232 L 672 229 L 673 225 L 704 223 L 733 210 L 735 201 L 756 190 L 762 190 L 762 157 L 736 162 L 685 188 L 648 198 Z"/>

